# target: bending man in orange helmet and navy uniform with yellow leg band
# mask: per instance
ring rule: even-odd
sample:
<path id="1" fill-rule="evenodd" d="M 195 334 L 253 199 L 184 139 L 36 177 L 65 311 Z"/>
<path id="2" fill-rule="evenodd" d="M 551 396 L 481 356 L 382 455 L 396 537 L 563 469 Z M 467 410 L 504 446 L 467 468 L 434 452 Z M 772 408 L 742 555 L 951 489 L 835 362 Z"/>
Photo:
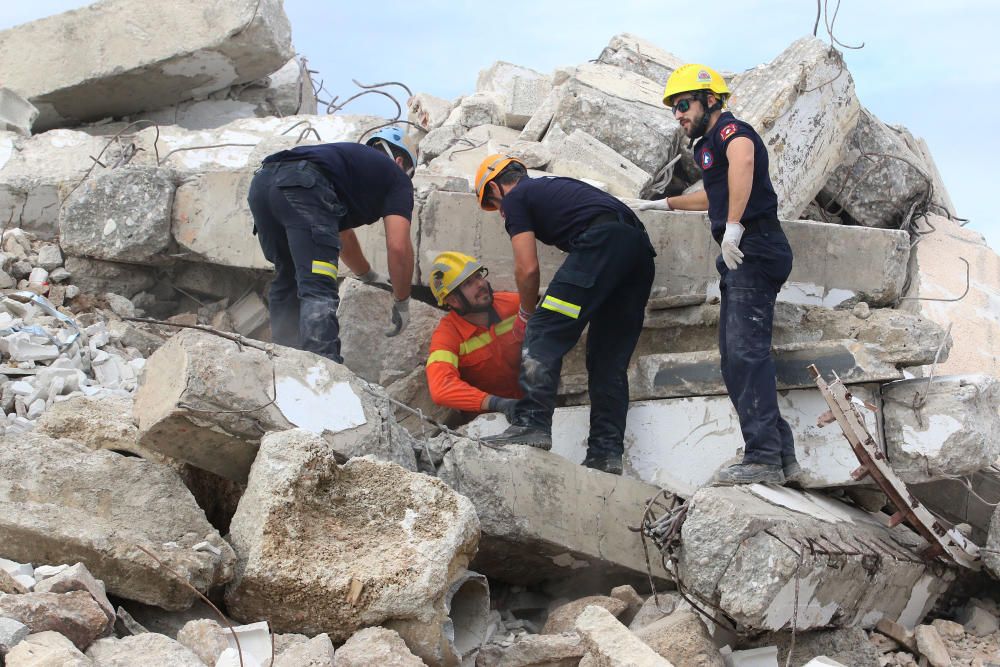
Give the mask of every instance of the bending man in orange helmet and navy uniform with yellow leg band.
<path id="1" fill-rule="evenodd" d="M 520 372 L 524 397 L 514 407 L 511 426 L 489 440 L 552 447 L 562 359 L 589 324 L 590 436 L 584 465 L 621 474 L 628 363 L 642 331 L 656 256 L 645 228 L 615 197 L 572 178 L 529 178 L 524 164 L 510 156 L 488 156 L 475 185 L 479 205 L 499 209 L 510 235 L 521 300 L 514 328 L 527 329 Z M 536 241 L 569 253 L 540 303 Z"/>

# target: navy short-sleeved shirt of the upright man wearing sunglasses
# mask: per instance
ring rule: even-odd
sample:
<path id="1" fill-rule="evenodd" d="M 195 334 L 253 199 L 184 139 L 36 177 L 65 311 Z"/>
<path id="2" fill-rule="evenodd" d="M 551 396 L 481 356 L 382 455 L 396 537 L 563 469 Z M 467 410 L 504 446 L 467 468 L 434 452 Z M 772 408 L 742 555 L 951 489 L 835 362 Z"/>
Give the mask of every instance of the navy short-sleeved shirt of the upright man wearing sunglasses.
<path id="1" fill-rule="evenodd" d="M 726 111 L 719 116 L 712 129 L 694 145 L 694 157 L 701 167 L 705 194 L 708 195 L 708 219 L 712 221 L 712 236 L 721 239 L 726 231 L 729 216 L 729 160 L 726 148 L 736 137 L 747 137 L 753 142 L 753 185 L 750 199 L 743 210 L 740 222 L 746 225 L 758 219 L 778 219 L 778 197 L 768 174 L 767 147 L 757 131 Z"/>

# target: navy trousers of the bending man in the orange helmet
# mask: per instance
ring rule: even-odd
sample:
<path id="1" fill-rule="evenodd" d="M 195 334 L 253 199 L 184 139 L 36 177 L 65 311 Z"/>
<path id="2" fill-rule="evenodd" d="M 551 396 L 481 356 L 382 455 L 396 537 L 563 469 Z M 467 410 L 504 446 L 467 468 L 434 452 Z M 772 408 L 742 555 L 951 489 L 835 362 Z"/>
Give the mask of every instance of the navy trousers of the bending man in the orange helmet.
<path id="1" fill-rule="evenodd" d="M 642 223 L 632 218 L 592 224 L 570 242 L 569 256 L 528 320 L 521 351 L 524 397 L 515 406 L 515 424 L 551 433 L 563 357 L 589 324 L 587 455 L 622 455 L 628 364 L 642 331 L 655 256 Z"/>

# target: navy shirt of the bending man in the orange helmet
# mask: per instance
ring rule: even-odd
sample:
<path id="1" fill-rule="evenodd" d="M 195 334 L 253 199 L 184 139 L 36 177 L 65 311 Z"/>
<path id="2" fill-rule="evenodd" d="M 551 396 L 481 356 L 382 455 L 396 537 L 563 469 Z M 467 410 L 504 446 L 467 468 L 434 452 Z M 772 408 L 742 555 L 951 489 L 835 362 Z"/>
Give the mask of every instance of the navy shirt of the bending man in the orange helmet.
<path id="1" fill-rule="evenodd" d="M 503 197 L 504 227 L 514 237 L 534 232 L 535 238 L 569 252 L 569 242 L 597 217 L 621 214 L 631 220 L 628 206 L 606 192 L 575 178 L 525 177 Z"/>

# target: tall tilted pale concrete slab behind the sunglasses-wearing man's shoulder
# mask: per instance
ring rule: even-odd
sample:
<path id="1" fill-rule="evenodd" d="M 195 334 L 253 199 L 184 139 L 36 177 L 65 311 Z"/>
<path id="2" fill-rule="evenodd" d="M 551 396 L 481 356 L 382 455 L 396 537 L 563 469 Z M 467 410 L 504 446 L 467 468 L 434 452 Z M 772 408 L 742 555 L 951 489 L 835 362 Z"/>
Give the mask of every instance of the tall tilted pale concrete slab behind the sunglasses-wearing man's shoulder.
<path id="1" fill-rule="evenodd" d="M 729 106 L 770 155 L 778 215 L 797 219 L 845 156 L 861 106 L 840 52 L 816 37 L 793 42 L 733 79 Z"/>

